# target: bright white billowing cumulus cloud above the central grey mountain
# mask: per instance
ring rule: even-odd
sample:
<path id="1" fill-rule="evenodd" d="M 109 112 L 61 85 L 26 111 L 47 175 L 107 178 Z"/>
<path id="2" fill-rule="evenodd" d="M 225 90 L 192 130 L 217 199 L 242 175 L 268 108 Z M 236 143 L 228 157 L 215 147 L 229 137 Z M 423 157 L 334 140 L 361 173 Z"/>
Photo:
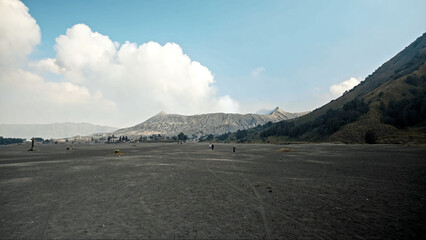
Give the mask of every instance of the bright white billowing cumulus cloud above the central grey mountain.
<path id="1" fill-rule="evenodd" d="M 56 39 L 64 77 L 99 90 L 126 117 L 146 119 L 164 110 L 181 114 L 236 112 L 238 103 L 217 96 L 212 73 L 191 61 L 176 43 L 118 46 L 108 36 L 78 24 Z"/>

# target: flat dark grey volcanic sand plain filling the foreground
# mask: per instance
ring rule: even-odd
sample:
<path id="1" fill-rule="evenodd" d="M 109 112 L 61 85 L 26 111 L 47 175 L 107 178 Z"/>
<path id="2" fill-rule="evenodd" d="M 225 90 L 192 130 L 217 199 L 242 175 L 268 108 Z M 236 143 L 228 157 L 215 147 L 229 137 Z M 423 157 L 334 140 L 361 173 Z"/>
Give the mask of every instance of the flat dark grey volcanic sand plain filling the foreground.
<path id="1" fill-rule="evenodd" d="M 0 146 L 2 239 L 426 236 L 424 147 L 37 147 Z"/>

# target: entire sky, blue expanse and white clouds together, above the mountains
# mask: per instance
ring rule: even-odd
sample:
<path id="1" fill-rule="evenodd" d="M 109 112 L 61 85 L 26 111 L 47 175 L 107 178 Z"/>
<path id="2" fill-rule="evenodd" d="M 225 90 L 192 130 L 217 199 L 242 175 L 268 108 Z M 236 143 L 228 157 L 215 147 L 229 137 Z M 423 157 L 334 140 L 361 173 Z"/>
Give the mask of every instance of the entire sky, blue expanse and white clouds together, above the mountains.
<path id="1" fill-rule="evenodd" d="M 314 110 L 426 31 L 424 0 L 0 0 L 0 123 Z"/>

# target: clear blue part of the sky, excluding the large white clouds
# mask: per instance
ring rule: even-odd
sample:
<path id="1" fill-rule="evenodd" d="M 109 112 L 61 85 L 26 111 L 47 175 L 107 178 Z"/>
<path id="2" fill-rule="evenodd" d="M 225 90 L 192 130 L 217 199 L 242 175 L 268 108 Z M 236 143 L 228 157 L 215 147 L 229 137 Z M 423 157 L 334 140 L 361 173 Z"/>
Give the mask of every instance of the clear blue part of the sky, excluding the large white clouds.
<path id="1" fill-rule="evenodd" d="M 55 39 L 79 23 L 121 45 L 173 42 L 240 112 L 320 107 L 338 97 L 332 85 L 363 80 L 426 31 L 424 0 L 23 3 L 41 31 L 31 60 L 55 58 Z"/>

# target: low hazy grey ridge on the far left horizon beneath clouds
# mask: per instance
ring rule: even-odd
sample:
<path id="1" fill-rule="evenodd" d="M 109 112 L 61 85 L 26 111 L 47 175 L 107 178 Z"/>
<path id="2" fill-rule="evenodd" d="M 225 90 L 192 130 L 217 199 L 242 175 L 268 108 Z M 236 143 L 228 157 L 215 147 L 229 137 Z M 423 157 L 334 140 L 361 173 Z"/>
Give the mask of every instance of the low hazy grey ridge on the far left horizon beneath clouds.
<path id="1" fill-rule="evenodd" d="M 94 133 L 113 132 L 118 128 L 93 125 L 90 123 L 52 123 L 52 124 L 0 124 L 0 136 L 26 138 L 66 138 L 87 136 Z"/>

